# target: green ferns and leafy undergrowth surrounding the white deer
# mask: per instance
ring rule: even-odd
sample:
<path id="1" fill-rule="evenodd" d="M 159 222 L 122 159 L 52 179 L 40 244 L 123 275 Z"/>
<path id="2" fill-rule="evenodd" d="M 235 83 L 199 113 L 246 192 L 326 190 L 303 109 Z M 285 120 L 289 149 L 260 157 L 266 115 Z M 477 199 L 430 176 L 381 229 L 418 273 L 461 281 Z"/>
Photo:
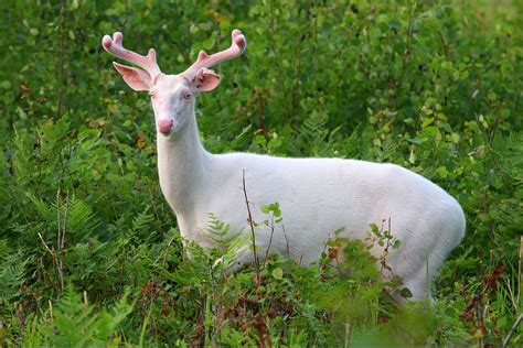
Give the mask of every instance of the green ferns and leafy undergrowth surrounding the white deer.
<path id="1" fill-rule="evenodd" d="M 4 0 L 0 13 L 0 345 L 523 344 L 521 1 Z M 199 99 L 205 148 L 393 162 L 446 188 L 468 227 L 434 309 L 387 302 L 363 243 L 344 241 L 342 267 L 335 240 L 316 265 L 263 258 L 226 278 L 215 260 L 245 241 L 211 216 L 228 249 L 184 257 L 148 97 L 100 40 L 119 30 L 175 73 L 234 28 L 249 44 Z"/>

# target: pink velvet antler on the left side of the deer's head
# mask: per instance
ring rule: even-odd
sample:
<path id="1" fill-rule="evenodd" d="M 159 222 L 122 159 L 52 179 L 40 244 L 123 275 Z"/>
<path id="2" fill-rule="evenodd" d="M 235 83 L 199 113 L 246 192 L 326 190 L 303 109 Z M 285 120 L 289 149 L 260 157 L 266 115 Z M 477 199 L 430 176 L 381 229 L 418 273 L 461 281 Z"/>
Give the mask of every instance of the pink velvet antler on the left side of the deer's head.
<path id="1" fill-rule="evenodd" d="M 154 48 L 150 48 L 147 56 L 143 56 L 136 52 L 124 48 L 121 45 L 122 42 L 124 34 L 120 32 L 114 33 L 113 39 L 110 39 L 109 35 L 105 35 L 104 39 L 102 39 L 102 45 L 104 46 L 105 51 L 116 55 L 119 58 L 138 65 L 149 73 L 151 79 L 154 79 L 161 74 L 160 67 L 157 63 L 157 53 Z"/>

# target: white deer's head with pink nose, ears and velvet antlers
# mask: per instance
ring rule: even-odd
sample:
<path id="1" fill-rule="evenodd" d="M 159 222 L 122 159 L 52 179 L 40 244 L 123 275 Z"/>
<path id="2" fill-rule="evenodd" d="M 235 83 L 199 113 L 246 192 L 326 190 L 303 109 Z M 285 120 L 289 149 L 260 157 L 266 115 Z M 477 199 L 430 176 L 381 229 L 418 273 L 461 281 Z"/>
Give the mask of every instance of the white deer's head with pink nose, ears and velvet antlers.
<path id="1" fill-rule="evenodd" d="M 239 56 L 247 47 L 239 30 L 234 30 L 232 36 L 231 47 L 212 55 L 201 51 L 196 62 L 179 75 L 166 75 L 160 70 L 154 48 L 150 48 L 147 56 L 124 48 L 124 34 L 119 32 L 114 33 L 113 37 L 105 35 L 102 45 L 110 54 L 139 67 L 113 63 L 130 88 L 149 91 L 157 130 L 169 137 L 183 129 L 188 119 L 194 117 L 195 97 L 220 84 L 220 75 L 210 68 Z"/>

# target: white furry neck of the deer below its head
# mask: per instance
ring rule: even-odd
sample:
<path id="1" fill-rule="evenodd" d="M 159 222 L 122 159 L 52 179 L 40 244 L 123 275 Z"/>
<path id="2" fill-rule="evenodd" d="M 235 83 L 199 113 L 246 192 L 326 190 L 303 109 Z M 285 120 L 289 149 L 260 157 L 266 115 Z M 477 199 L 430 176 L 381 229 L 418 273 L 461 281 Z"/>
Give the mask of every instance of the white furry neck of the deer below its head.
<path id="1" fill-rule="evenodd" d="M 200 141 L 194 104 L 186 112 L 183 129 L 169 137 L 157 135 L 160 187 L 177 215 L 192 210 L 207 174 L 209 153 Z"/>

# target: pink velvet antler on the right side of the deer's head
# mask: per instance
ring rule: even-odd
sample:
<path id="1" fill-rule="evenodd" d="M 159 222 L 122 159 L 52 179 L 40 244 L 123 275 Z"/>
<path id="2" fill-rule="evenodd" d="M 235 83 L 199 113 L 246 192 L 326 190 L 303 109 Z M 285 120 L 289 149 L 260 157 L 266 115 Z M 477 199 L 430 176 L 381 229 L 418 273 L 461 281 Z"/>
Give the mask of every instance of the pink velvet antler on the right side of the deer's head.
<path id="1" fill-rule="evenodd" d="M 247 47 L 247 40 L 245 36 L 237 29 L 233 30 L 232 36 L 233 43 L 231 44 L 231 47 L 225 51 L 221 51 L 212 55 L 207 55 L 205 51 L 200 51 L 196 62 L 194 62 L 185 72 L 183 72 L 182 75 L 189 79 L 193 79 L 202 67 L 210 68 L 222 62 L 235 58 L 244 53 L 245 48 Z"/>

